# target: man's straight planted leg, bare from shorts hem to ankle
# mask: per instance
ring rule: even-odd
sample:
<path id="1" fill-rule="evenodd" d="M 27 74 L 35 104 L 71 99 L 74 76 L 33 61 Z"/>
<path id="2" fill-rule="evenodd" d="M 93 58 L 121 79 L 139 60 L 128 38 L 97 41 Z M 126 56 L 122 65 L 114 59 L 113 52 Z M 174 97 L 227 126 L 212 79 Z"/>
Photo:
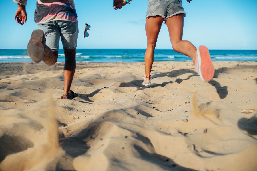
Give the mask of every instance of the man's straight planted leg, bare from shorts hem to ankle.
<path id="1" fill-rule="evenodd" d="M 76 49 L 64 49 L 65 64 L 64 64 L 64 92 L 69 94 L 71 83 L 76 70 Z"/>

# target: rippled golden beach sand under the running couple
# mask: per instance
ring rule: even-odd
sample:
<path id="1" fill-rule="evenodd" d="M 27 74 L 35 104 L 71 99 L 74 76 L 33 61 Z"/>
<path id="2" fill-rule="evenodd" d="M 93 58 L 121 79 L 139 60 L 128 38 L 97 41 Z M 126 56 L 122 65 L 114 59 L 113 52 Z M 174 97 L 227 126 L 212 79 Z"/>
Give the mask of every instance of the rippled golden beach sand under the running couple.
<path id="1" fill-rule="evenodd" d="M 63 100 L 63 64 L 2 63 L 0 170 L 257 170 L 256 65 L 81 63 Z"/>

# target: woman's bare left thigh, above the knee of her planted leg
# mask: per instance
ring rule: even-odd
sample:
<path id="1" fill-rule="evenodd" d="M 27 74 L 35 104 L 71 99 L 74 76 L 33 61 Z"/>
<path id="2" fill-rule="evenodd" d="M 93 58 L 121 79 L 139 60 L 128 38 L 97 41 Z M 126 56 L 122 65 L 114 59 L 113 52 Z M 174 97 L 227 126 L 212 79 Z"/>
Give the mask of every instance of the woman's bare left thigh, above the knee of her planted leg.
<path id="1" fill-rule="evenodd" d="M 145 23 L 145 31 L 148 44 L 155 45 L 157 42 L 160 29 L 162 27 L 163 18 L 160 16 L 147 17 Z"/>

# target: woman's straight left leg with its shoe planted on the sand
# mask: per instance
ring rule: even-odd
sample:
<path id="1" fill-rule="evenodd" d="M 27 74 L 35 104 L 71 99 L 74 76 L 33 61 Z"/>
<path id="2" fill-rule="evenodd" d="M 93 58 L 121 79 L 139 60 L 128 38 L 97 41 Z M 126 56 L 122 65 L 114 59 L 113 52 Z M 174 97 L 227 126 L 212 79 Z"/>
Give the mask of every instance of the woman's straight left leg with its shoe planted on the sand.
<path id="1" fill-rule="evenodd" d="M 154 61 L 154 49 L 163 21 L 164 19 L 160 16 L 146 18 L 145 31 L 147 36 L 147 47 L 144 56 L 146 76 L 150 76 L 151 74 Z M 144 80 L 144 83 L 150 83 L 150 79 Z"/>

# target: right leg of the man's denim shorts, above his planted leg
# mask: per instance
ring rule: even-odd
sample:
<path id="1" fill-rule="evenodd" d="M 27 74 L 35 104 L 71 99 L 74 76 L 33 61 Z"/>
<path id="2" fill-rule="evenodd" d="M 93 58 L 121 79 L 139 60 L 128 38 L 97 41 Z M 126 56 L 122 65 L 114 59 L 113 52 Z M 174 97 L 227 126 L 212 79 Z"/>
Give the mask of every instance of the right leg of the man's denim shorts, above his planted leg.
<path id="1" fill-rule="evenodd" d="M 64 49 L 75 49 L 77 47 L 79 28 L 78 22 L 59 21 L 61 40 Z"/>

